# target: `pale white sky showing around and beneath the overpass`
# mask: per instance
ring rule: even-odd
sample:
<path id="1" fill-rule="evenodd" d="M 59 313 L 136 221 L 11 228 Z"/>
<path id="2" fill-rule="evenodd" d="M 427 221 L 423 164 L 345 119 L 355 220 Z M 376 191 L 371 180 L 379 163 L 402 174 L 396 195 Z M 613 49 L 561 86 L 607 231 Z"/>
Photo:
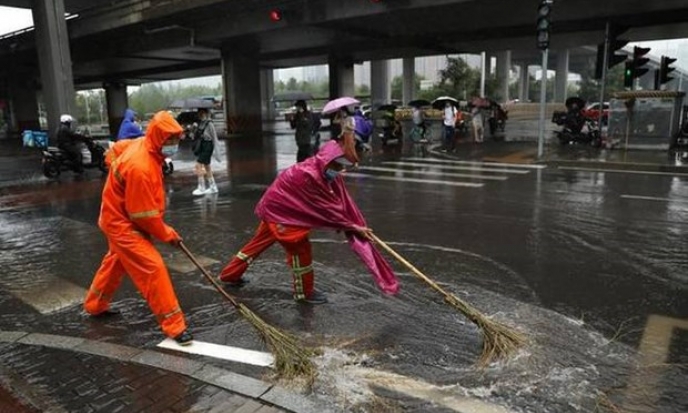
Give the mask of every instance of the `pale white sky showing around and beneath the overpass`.
<path id="1" fill-rule="evenodd" d="M 33 26 L 31 10 L 0 6 L 0 36 L 31 26 Z M 627 47 L 632 47 L 633 45 L 650 47 L 652 49 L 650 54 L 656 57 L 665 55 L 678 58 L 678 61 L 674 64 L 674 66 L 688 70 L 688 39 L 640 42 L 630 44 Z M 279 73 L 275 73 L 275 79 L 288 79 L 290 77 L 290 71 L 294 71 L 294 73 L 301 73 L 300 71 L 295 71 L 295 69 L 281 69 L 278 71 Z M 182 81 L 173 82 L 180 83 L 182 85 L 205 85 L 215 87 L 219 82 L 219 76 L 185 79 Z"/>

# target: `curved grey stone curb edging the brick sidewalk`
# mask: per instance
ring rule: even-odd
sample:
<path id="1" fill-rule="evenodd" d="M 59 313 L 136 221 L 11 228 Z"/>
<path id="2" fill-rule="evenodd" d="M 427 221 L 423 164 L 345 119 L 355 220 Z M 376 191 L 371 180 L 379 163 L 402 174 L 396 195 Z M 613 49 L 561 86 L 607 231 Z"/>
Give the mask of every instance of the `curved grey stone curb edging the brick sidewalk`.
<path id="1" fill-rule="evenodd" d="M 181 374 L 293 413 L 332 412 L 328 407 L 322 406 L 284 387 L 254 379 L 253 377 L 237 374 L 200 361 L 153 350 L 78 337 L 28 333 L 23 331 L 0 331 L 0 343 L 43 346 L 154 367 L 171 373 Z"/>

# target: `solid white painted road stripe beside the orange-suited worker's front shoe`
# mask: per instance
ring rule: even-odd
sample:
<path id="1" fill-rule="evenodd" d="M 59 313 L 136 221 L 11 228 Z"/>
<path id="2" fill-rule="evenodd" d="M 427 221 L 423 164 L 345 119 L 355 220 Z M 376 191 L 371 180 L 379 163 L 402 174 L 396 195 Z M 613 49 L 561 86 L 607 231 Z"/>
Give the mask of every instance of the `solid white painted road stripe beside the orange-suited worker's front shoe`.
<path id="1" fill-rule="evenodd" d="M 183 353 L 198 354 L 201 356 L 234 361 L 237 363 L 251 364 L 253 366 L 260 367 L 272 367 L 272 365 L 275 363 L 275 358 L 270 353 L 247 350 L 240 347 L 206 343 L 198 340 L 194 340 L 188 346 L 180 346 L 173 339 L 166 338 L 160 344 L 158 344 L 158 347 L 181 351 Z"/>

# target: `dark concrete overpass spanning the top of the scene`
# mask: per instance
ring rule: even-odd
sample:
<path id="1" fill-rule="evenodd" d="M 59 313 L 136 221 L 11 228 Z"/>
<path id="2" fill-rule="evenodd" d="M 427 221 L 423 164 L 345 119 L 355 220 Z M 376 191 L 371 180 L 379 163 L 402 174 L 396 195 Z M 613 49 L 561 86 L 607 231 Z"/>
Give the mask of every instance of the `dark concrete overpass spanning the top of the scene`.
<path id="1" fill-rule="evenodd" d="M 73 107 L 73 85 L 105 87 L 117 123 L 128 84 L 222 73 L 227 119 L 251 130 L 260 128 L 273 68 L 327 63 L 337 96 L 353 92 L 353 64 L 371 60 L 375 97 L 388 88 L 385 59 L 489 51 L 498 73 L 512 62 L 538 64 L 538 2 L 0 0 L 33 8 L 36 20 L 35 31 L 0 39 L 0 59 L 9 63 L 0 68 L 0 94 L 24 101 L 19 96 L 41 89 L 54 125 Z M 273 9 L 281 21 L 269 18 Z M 63 10 L 75 18 L 65 22 Z M 603 40 L 608 21 L 632 27 L 629 40 L 653 40 L 688 37 L 685 15 L 685 0 L 555 0 L 550 67 L 568 70 L 585 54 L 581 46 Z"/>

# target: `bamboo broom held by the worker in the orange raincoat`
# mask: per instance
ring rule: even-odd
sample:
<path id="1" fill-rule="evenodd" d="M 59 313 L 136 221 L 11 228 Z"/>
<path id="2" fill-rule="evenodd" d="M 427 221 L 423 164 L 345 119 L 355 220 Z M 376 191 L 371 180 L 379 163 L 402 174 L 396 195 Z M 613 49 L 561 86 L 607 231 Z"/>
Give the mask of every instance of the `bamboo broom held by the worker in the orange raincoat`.
<path id="1" fill-rule="evenodd" d="M 286 379 L 304 377 L 308 385 L 312 385 L 315 380 L 316 369 L 310 358 L 315 355 L 315 352 L 301 345 L 296 337 L 291 334 L 282 332 L 266 323 L 248 307 L 229 295 L 222 286 L 208 274 L 208 271 L 203 268 L 198 260 L 196 260 L 183 242 L 179 243 L 179 248 L 184 251 L 184 254 L 189 257 L 191 262 L 196 265 L 213 287 L 215 287 L 215 289 L 237 309 L 239 314 L 258 330 L 263 342 L 268 346 L 275 357 L 275 370 L 277 371 L 277 375 Z"/>

